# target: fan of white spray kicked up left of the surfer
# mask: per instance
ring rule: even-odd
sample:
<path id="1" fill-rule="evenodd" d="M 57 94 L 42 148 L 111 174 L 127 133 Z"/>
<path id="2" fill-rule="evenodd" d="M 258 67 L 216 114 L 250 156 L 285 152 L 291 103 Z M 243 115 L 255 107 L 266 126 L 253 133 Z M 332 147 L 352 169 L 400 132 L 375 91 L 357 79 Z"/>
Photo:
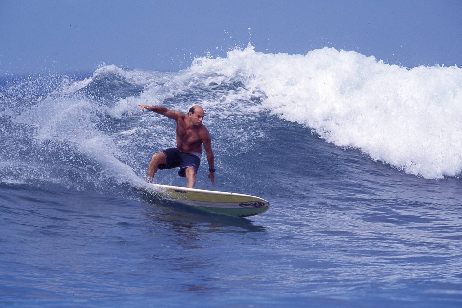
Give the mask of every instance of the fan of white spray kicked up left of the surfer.
<path id="1" fill-rule="evenodd" d="M 103 110 L 104 106 L 85 97 L 48 96 L 40 104 L 24 110 L 15 121 L 36 127 L 31 133 L 38 143 L 52 141 L 62 156 L 54 158 L 57 162 L 73 161 L 72 153 L 77 151 L 97 162 L 104 170 L 103 178 L 118 182 L 136 181 L 138 177 L 134 171 L 116 158 L 121 155 L 119 146 L 109 134 L 98 129 L 104 119 L 97 114 Z M 62 181 L 66 183 L 66 180 Z M 98 178 L 91 181 L 103 185 Z"/>

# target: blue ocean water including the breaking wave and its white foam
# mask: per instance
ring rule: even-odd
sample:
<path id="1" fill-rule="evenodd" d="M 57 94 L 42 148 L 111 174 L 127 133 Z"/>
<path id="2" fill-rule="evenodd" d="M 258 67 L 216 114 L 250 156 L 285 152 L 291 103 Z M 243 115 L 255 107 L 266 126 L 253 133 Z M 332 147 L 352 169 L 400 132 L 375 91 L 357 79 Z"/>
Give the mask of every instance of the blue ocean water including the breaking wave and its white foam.
<path id="1" fill-rule="evenodd" d="M 180 72 L 101 66 L 1 80 L 5 307 L 459 307 L 462 69 L 333 48 L 249 46 Z M 197 188 L 259 195 L 249 218 L 146 198 L 201 104 Z M 205 166 L 205 167 L 204 167 Z M 155 182 L 184 186 L 175 170 Z"/>

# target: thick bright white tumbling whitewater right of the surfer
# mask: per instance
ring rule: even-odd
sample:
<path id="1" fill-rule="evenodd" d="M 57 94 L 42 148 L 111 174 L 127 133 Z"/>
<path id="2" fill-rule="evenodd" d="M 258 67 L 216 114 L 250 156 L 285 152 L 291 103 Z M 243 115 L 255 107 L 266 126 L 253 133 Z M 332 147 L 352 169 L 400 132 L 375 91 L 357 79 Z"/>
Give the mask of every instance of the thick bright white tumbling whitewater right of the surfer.
<path id="1" fill-rule="evenodd" d="M 261 107 L 311 127 L 335 145 L 434 179 L 462 171 L 462 69 L 389 65 L 323 48 L 264 54 L 252 46 L 198 58 L 191 73 L 241 79 Z M 255 108 L 251 111 L 257 111 Z"/>

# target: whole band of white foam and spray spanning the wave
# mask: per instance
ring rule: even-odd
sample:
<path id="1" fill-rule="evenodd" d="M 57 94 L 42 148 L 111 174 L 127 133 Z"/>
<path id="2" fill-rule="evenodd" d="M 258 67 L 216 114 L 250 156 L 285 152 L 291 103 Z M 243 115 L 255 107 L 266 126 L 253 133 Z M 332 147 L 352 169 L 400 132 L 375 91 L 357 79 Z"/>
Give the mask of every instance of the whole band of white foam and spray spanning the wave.
<path id="1" fill-rule="evenodd" d="M 14 127 L 31 127 L 32 134 L 27 129 L 19 136 L 30 139 L 27 144 L 33 147 L 26 151 L 36 153 L 35 158 L 47 159 L 41 155 L 51 142 L 65 157 L 83 154 L 111 166 L 114 170 L 104 174 L 116 177 L 127 174 L 117 161 L 132 161 L 130 156 L 144 153 L 146 143 L 159 149 L 175 145 L 168 121 L 152 115 L 138 123 L 122 118 L 138 115 L 138 104 L 186 112 L 191 102 L 207 110 L 219 151 L 252 148 L 264 135 L 261 116 L 276 115 L 412 175 L 440 179 L 462 171 L 462 69 L 457 66 L 407 69 L 334 48 L 289 55 L 255 52 L 249 46 L 226 58 L 197 58 L 181 72 L 102 66 L 83 80 L 52 76 L 11 81 L 2 93 L 4 107 L 9 106 L 3 116 L 14 115 L 3 127 L 5 135 Z M 4 140 L 7 149 L 14 144 L 9 138 L 16 137 Z M 30 165 L 12 147 L 3 164 Z M 21 158 L 13 159 L 15 155 Z M 57 157 L 57 165 L 68 160 L 58 153 L 51 157 Z M 138 173 L 145 168 L 136 162 L 131 167 Z"/>

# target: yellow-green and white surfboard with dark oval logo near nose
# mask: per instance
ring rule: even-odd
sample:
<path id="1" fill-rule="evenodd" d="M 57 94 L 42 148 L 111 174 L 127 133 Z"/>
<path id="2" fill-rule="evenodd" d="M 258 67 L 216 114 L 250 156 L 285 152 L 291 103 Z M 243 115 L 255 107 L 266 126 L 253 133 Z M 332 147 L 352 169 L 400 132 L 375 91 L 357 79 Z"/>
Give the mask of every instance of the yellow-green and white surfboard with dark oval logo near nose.
<path id="1" fill-rule="evenodd" d="M 138 188 L 146 193 L 192 206 L 197 210 L 233 217 L 254 216 L 269 209 L 267 200 L 242 193 L 147 183 L 146 186 Z"/>

